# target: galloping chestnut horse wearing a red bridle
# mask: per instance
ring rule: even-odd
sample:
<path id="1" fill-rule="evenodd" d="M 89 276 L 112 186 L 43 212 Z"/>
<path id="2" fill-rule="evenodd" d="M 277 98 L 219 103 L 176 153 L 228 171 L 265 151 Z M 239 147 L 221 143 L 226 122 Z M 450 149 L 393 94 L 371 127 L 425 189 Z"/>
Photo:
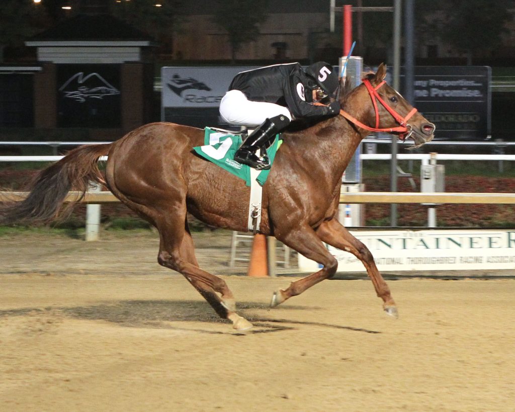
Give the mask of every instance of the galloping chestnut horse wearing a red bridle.
<path id="1" fill-rule="evenodd" d="M 364 83 L 340 93 L 341 115 L 283 133 L 284 142 L 263 185 L 259 231 L 318 262 L 321 269 L 275 291 L 271 307 L 335 274 L 338 262 L 325 242 L 363 262 L 384 310 L 397 317 L 372 254 L 336 218 L 342 174 L 370 130 L 409 136 L 416 145 L 433 139 L 434 125 L 386 84 L 385 76 L 382 64 L 376 73 L 366 75 Z M 186 212 L 212 226 L 248 230 L 250 188 L 197 156 L 192 148 L 203 144 L 202 129 L 152 123 L 111 144 L 78 147 L 42 170 L 25 200 L 4 205 L 0 224 L 49 222 L 62 212 L 68 191 L 84 193 L 90 181 L 105 183 L 158 229 L 159 264 L 182 273 L 221 318 L 232 321 L 234 329 L 249 329 L 252 324 L 236 313 L 226 282 L 202 270 L 195 258 Z M 109 158 L 104 181 L 97 161 L 105 155 Z"/>

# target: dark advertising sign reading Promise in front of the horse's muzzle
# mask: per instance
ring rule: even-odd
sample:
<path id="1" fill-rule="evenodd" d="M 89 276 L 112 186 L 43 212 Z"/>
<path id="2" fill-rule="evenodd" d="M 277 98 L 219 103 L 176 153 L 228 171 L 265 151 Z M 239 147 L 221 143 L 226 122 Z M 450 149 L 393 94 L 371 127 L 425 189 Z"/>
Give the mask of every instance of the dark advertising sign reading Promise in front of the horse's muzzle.
<path id="1" fill-rule="evenodd" d="M 491 135 L 490 83 L 487 66 L 417 66 L 415 107 L 436 125 L 436 140 L 484 140 Z"/>

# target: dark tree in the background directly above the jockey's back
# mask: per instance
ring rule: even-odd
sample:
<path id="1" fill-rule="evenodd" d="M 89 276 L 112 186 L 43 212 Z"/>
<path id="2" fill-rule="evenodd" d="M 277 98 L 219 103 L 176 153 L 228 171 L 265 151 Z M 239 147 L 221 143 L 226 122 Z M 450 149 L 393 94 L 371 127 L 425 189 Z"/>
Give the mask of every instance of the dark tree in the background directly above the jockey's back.
<path id="1" fill-rule="evenodd" d="M 227 31 L 233 61 L 244 43 L 258 37 L 259 25 L 266 20 L 267 6 L 267 0 L 225 0 L 220 2 L 213 21 Z"/>

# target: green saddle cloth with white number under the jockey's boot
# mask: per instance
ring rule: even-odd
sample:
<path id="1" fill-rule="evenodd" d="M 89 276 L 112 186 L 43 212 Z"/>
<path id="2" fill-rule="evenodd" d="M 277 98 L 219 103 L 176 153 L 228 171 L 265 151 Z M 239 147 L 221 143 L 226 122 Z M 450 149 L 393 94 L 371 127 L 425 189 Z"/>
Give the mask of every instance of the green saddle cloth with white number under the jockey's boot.
<path id="1" fill-rule="evenodd" d="M 227 134 L 209 127 L 206 127 L 204 130 L 204 146 L 196 146 L 193 150 L 203 158 L 245 180 L 247 186 L 250 186 L 250 166 L 234 160 L 234 153 L 242 144 L 242 137 L 238 134 Z M 270 163 L 276 157 L 280 142 L 282 143 L 282 140 L 279 140 L 278 134 L 272 145 L 266 150 Z M 258 175 L 257 180 L 262 186 L 265 184 L 269 172 L 270 170 L 261 170 Z"/>

